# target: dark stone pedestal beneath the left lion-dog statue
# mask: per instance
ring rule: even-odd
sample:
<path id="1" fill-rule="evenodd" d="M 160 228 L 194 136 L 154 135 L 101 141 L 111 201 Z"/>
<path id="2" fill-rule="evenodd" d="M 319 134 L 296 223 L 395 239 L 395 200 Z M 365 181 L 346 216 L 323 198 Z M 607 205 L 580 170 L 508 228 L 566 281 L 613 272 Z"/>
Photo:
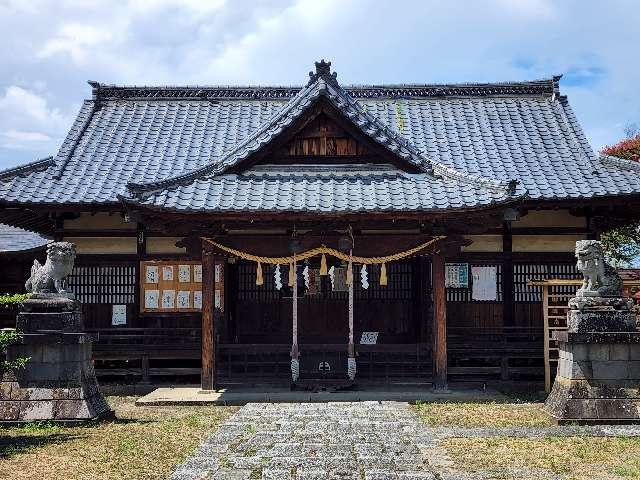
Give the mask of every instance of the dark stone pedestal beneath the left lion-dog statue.
<path id="1" fill-rule="evenodd" d="M 62 303 L 68 306 L 68 301 Z M 93 338 L 82 333 L 80 312 L 29 309 L 18 315 L 21 341 L 7 350 L 8 360 L 29 361 L 0 382 L 0 422 L 78 422 L 113 415 L 98 388 L 91 363 Z"/>

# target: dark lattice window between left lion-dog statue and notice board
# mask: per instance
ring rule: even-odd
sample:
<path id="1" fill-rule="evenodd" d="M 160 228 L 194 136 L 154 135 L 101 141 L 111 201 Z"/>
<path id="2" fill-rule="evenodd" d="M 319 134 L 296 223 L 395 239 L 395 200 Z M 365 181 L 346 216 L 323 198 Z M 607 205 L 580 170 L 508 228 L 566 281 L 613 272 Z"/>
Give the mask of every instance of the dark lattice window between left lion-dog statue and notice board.
<path id="1" fill-rule="evenodd" d="M 136 292 L 134 265 L 76 266 L 69 287 L 82 303 L 133 304 Z"/>

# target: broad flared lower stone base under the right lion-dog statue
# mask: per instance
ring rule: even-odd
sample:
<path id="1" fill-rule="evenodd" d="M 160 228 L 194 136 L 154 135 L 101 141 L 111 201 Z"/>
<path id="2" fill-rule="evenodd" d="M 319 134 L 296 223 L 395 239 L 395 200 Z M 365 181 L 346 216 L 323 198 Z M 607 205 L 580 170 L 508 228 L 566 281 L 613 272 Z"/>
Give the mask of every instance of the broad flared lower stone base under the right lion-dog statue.
<path id="1" fill-rule="evenodd" d="M 545 410 L 559 423 L 640 422 L 640 332 L 554 332 L 560 360 Z"/>

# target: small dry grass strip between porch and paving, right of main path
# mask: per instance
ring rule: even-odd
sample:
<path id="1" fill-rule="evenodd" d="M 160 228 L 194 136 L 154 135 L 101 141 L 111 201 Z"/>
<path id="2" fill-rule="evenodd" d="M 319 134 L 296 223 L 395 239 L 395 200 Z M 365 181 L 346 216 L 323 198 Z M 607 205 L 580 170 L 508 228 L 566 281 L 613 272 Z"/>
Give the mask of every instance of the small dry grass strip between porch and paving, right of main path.
<path id="1" fill-rule="evenodd" d="M 429 427 L 545 427 L 551 419 L 539 403 L 418 402 Z"/>

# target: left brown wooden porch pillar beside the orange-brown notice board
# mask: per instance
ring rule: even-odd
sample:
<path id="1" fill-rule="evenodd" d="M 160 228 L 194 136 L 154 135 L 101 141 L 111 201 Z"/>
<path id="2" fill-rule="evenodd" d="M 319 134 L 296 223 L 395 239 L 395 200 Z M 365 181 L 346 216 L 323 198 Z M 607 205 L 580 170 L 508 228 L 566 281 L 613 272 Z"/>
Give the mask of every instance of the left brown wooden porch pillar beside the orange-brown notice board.
<path id="1" fill-rule="evenodd" d="M 202 249 L 202 390 L 213 390 L 216 385 L 214 338 L 215 257 L 203 245 Z"/>

